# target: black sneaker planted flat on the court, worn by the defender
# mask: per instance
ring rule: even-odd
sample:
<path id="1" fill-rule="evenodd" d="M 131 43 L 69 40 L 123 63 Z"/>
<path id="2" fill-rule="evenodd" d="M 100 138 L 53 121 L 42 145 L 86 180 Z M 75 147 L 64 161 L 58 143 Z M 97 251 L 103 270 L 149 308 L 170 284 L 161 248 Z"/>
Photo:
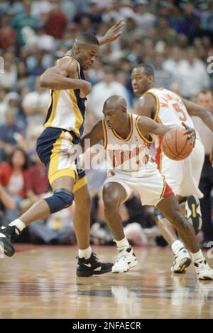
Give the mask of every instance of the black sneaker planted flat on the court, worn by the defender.
<path id="1" fill-rule="evenodd" d="M 89 259 L 77 257 L 77 276 L 92 276 L 111 272 L 112 263 L 100 263 L 97 255 L 92 252 Z"/>

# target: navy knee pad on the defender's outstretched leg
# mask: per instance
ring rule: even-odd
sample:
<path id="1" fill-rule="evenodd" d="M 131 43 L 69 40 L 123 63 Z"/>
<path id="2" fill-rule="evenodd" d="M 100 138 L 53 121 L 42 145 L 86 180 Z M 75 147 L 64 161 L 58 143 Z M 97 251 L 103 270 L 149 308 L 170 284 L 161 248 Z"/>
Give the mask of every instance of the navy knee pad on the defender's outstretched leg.
<path id="1" fill-rule="evenodd" d="M 56 213 L 64 208 L 72 205 L 74 195 L 67 189 L 58 189 L 54 192 L 53 196 L 49 196 L 45 201 L 48 203 L 50 213 Z"/>

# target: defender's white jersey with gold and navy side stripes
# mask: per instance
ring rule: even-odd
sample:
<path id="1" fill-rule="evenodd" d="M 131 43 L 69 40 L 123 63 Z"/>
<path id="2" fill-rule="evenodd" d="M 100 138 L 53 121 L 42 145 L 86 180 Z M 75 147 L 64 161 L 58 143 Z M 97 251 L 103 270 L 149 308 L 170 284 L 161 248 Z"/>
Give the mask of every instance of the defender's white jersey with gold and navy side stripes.
<path id="1" fill-rule="evenodd" d="M 84 80 L 84 73 L 78 62 L 77 67 L 79 79 Z M 50 90 L 50 103 L 44 126 L 67 129 L 80 137 L 84 130 L 86 100 L 80 97 L 79 89 Z"/>

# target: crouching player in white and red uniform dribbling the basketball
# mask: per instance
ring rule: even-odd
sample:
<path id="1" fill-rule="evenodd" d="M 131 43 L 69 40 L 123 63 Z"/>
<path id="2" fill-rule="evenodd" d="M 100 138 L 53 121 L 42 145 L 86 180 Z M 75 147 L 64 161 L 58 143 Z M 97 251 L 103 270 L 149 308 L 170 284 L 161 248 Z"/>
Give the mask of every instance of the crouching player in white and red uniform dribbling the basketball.
<path id="1" fill-rule="evenodd" d="M 104 142 L 110 164 L 109 175 L 104 182 L 103 200 L 106 221 L 114 235 L 119 256 L 112 267 L 113 273 L 122 273 L 137 264 L 131 245 L 124 236 L 119 206 L 133 191 L 138 191 L 143 205 L 153 205 L 160 209 L 190 250 L 195 262 L 195 270 L 200 280 L 213 280 L 213 270 L 206 263 L 197 244 L 192 225 L 182 215 L 173 190 L 160 174 L 157 164 L 152 161 L 148 145 L 153 142 L 151 134 L 163 136 L 171 127 L 138 115 L 128 114 L 123 97 L 109 97 L 103 107 L 104 120 L 95 125 L 82 139 L 82 151 Z M 187 127 L 188 137 L 195 140 L 195 129 Z M 74 148 L 72 148 L 74 149 Z M 72 156 L 72 149 L 62 154 Z M 72 157 L 73 158 L 73 157 Z"/>

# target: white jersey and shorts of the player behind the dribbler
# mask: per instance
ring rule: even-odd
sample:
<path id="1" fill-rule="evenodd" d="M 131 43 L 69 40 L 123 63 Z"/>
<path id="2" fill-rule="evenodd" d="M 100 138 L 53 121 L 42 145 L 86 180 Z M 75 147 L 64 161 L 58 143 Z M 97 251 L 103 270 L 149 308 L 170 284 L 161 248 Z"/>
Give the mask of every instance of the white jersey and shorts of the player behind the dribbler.
<path id="1" fill-rule="evenodd" d="M 148 93 L 153 95 L 156 100 L 156 112 L 153 117 L 155 122 L 163 123 L 163 125 L 172 128 L 182 127 L 182 122 L 185 122 L 187 126 L 195 128 L 180 96 L 163 88 L 152 88 L 146 92 L 146 94 Z M 194 194 L 198 198 L 202 198 L 199 181 L 204 162 L 204 147 L 198 132 L 195 148 L 190 156 L 182 161 L 173 161 L 166 157 L 162 150 L 162 141 L 163 137 L 157 137 L 155 140 L 155 161 L 170 187 L 175 194 L 180 196 Z"/>

